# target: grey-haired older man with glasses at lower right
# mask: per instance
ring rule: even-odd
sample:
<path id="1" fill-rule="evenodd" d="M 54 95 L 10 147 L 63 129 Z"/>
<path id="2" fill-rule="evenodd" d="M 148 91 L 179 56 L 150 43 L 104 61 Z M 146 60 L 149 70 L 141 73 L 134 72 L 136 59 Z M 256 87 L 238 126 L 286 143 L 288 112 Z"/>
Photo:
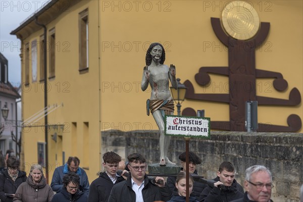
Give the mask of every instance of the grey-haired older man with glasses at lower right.
<path id="1" fill-rule="evenodd" d="M 246 192 L 240 199 L 233 202 L 269 202 L 272 201 L 271 191 L 274 185 L 272 184 L 272 174 L 261 165 L 251 166 L 245 171 L 244 187 Z"/>

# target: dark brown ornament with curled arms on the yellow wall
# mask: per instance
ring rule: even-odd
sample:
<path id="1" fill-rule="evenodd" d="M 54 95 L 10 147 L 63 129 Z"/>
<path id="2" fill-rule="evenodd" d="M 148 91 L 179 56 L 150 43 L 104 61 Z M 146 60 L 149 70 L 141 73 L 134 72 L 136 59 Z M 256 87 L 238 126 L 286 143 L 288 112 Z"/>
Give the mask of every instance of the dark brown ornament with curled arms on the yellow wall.
<path id="1" fill-rule="evenodd" d="M 241 5 L 238 5 L 241 6 Z M 225 10 L 226 11 L 226 10 Z M 243 13 L 248 12 L 242 10 Z M 224 14 L 224 12 L 223 12 Z M 241 14 L 244 15 L 244 14 Z M 247 15 L 252 15 L 251 13 Z M 233 15 L 225 15 L 232 16 Z M 222 15 L 222 18 L 224 16 Z M 241 17 L 241 16 L 240 16 Z M 255 16 L 253 17 L 255 20 Z M 226 21 L 226 19 L 224 19 Z M 228 21 L 229 19 L 227 19 Z M 259 18 L 258 18 L 259 20 Z M 210 73 L 226 75 L 229 78 L 229 94 L 217 93 L 195 93 L 194 87 L 189 80 L 184 82 L 187 87 L 185 98 L 193 100 L 206 100 L 211 102 L 220 102 L 229 104 L 229 121 L 211 121 L 211 129 L 227 131 L 245 131 L 245 102 L 258 101 L 258 105 L 269 106 L 297 106 L 301 103 L 301 95 L 297 88 L 293 88 L 289 93 L 289 99 L 279 99 L 256 95 L 256 78 L 274 78 L 273 86 L 278 91 L 285 91 L 288 83 L 281 73 L 267 70 L 256 69 L 255 49 L 266 39 L 270 29 L 270 23 L 261 22 L 260 28 L 255 35 L 248 35 L 246 40 L 238 39 L 235 34 L 233 37 L 226 34 L 230 31 L 243 29 L 226 27 L 223 30 L 219 18 L 211 18 L 213 30 L 219 40 L 228 47 L 228 67 L 201 67 L 195 75 L 195 81 L 206 86 L 210 82 Z M 229 23 L 230 24 L 230 23 Z M 247 22 L 244 22 L 247 24 Z M 255 23 L 256 24 L 256 23 Z M 249 27 L 246 32 L 249 32 Z M 233 29 L 227 31 L 227 29 Z M 239 37 L 240 38 L 240 37 Z M 244 36 L 245 38 L 245 36 Z M 183 110 L 183 116 L 194 116 L 195 110 L 186 108 Z M 271 121 L 268 121 L 271 122 Z M 300 130 L 302 122 L 298 115 L 291 114 L 287 118 L 288 126 L 279 126 L 272 124 L 258 124 L 258 132 L 296 132 Z"/>

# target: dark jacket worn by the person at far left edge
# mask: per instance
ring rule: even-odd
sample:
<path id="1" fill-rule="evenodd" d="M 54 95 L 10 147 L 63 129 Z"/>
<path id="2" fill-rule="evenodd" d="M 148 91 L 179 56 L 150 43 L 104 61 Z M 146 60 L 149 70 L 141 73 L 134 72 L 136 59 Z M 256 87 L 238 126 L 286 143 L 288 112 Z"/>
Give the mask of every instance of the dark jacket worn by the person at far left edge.
<path id="1" fill-rule="evenodd" d="M 9 176 L 8 170 L 4 169 L 2 173 L 0 173 L 0 199 L 2 202 L 13 202 L 13 197 L 8 197 L 6 193 L 16 193 L 17 188 L 20 186 L 22 182 L 26 181 L 26 173 L 24 171 L 20 171 L 18 173 L 18 177 L 15 182 Z"/>

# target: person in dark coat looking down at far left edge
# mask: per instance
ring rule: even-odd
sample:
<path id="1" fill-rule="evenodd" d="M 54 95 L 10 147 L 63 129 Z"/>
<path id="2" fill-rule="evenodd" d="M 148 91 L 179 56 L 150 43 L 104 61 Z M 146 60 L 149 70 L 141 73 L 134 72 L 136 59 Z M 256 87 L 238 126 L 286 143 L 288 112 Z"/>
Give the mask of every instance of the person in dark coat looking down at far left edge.
<path id="1" fill-rule="evenodd" d="M 26 173 L 19 170 L 20 161 L 15 156 L 7 160 L 7 169 L 0 174 L 0 199 L 13 202 L 17 188 L 26 181 Z"/>

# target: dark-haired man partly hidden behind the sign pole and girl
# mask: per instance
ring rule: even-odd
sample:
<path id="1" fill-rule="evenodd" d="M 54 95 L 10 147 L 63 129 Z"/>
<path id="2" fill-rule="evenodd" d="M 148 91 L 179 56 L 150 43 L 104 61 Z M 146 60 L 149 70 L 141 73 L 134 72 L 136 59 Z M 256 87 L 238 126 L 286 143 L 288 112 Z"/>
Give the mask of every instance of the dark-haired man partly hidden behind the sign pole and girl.
<path id="1" fill-rule="evenodd" d="M 183 152 L 181 155 L 179 155 L 179 159 L 181 161 L 181 166 L 183 167 L 183 171 L 186 171 L 186 153 Z M 197 175 L 196 165 L 201 164 L 200 158 L 194 154 L 192 151 L 189 151 L 189 164 L 188 164 L 188 170 L 191 175 Z M 181 171 L 181 172 L 183 172 Z M 173 192 L 174 195 L 178 195 L 178 190 L 176 188 L 176 177 L 168 177 L 167 178 L 167 185 L 170 188 L 170 190 Z M 194 196 L 196 199 L 199 198 L 200 193 L 203 191 L 203 189 L 207 187 L 206 184 L 194 181 L 193 182 L 193 189 L 190 194 L 190 196 Z"/>

